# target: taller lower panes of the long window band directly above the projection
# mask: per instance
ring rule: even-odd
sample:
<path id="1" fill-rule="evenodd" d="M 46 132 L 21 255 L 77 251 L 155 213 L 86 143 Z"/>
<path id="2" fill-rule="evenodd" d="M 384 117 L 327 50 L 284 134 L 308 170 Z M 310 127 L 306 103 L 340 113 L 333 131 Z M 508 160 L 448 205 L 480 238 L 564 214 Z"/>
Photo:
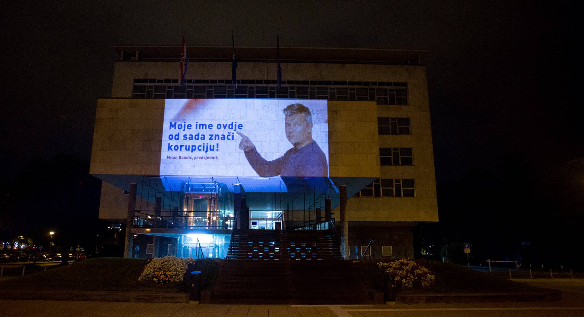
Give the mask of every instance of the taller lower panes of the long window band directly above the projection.
<path id="1" fill-rule="evenodd" d="M 408 104 L 407 88 L 283 86 L 134 85 L 134 98 L 284 98 L 363 100 Z"/>

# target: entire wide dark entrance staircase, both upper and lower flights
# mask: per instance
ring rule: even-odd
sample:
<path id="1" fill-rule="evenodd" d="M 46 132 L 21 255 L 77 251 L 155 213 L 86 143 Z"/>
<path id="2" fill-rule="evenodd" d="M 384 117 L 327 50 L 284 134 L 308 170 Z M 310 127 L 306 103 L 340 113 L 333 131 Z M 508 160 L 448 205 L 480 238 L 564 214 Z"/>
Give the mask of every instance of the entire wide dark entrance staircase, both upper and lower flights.
<path id="1" fill-rule="evenodd" d="M 353 263 L 324 230 L 234 230 L 214 304 L 372 304 Z"/>

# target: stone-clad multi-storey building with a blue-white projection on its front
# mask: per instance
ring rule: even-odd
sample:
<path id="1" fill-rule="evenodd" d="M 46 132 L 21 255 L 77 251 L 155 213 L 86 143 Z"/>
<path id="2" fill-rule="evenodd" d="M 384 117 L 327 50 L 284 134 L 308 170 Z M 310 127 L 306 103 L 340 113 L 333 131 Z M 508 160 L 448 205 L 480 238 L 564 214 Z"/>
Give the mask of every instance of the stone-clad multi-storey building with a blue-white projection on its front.
<path id="1" fill-rule="evenodd" d="M 131 222 L 131 256 L 225 257 L 234 226 L 330 229 L 324 220 L 332 217 L 348 223 L 346 257 L 360 257 L 373 239 L 367 257 L 412 258 L 412 228 L 438 221 L 426 68 L 421 63 L 426 51 L 282 47 L 278 88 L 273 47 L 236 48 L 237 85 L 231 80 L 231 47 L 187 48 L 185 85 L 178 79 L 180 47 L 115 49 L 119 60 L 112 96 L 98 100 L 90 172 L 103 181 L 100 219 Z M 291 103 L 324 104 L 325 119 L 320 126 L 315 123 L 323 127 L 318 130 L 321 141 L 315 140 L 326 147 L 328 175 L 262 177 L 224 163 L 177 169 L 182 165 L 172 165 L 172 155 L 166 155 L 174 146 L 168 130 L 182 120 L 179 112 L 169 121 L 176 103 L 181 111 L 194 109 L 193 103 L 220 105 L 205 114 L 213 120 L 217 113 L 227 118 L 234 104 L 246 104 L 241 120 L 256 118 L 245 121 L 249 127 L 276 120 L 270 117 L 270 104 L 277 110 L 274 116 Z M 256 138 L 283 138 L 274 131 L 274 137 Z M 235 135 L 226 147 L 217 142 L 215 151 L 223 158 L 231 155 L 232 161 L 242 158 L 236 148 L 241 138 Z M 271 146 L 258 144 L 256 148 Z M 280 142 L 270 151 L 281 155 L 287 147 Z M 227 153 L 231 149 L 233 154 Z M 196 152 L 177 157 L 186 157 L 192 167 L 193 155 L 212 157 Z M 308 185 L 292 190 L 295 182 Z M 343 211 L 342 186 L 347 196 Z M 135 200 L 128 199 L 133 195 Z M 245 205 L 239 204 L 241 198 Z M 325 211 L 326 200 L 332 215 Z"/>

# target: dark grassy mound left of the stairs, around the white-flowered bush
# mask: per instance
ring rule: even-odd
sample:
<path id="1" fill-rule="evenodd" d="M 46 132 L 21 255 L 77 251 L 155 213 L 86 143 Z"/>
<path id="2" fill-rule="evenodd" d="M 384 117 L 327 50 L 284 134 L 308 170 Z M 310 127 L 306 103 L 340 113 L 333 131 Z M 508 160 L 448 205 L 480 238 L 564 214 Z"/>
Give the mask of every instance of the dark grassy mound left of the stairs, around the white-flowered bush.
<path id="1" fill-rule="evenodd" d="M 146 259 L 100 257 L 67 266 L 30 274 L 0 282 L 0 288 L 33 290 L 83 290 L 83 291 L 132 291 L 132 292 L 179 292 L 177 284 L 159 285 L 138 283 Z"/>

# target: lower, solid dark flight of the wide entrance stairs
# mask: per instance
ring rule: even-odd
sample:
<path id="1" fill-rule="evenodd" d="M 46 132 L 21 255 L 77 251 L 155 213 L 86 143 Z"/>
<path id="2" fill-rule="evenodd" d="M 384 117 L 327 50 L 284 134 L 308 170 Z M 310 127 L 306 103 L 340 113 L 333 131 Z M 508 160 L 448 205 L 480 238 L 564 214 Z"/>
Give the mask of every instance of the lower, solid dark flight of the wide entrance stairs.
<path id="1" fill-rule="evenodd" d="M 345 260 L 226 260 L 213 304 L 373 304 L 353 263 Z"/>

